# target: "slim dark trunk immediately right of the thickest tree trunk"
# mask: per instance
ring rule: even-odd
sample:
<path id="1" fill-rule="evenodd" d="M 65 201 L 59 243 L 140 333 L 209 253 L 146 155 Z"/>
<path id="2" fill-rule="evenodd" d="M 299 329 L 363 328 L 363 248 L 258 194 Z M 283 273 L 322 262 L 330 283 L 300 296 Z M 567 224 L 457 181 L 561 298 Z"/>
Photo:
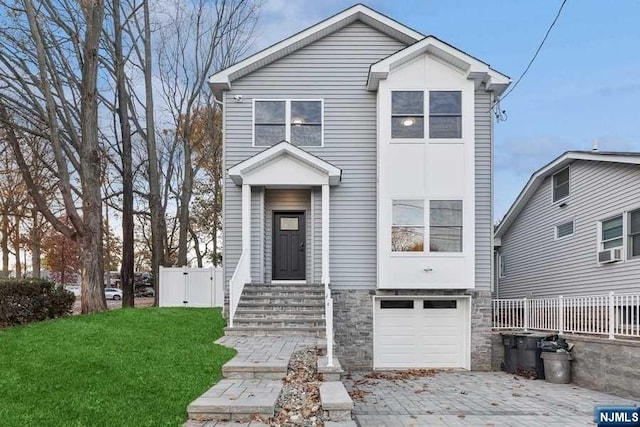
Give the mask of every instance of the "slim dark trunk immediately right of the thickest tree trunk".
<path id="1" fill-rule="evenodd" d="M 118 118 L 122 138 L 122 265 L 120 283 L 122 306 L 133 307 L 133 169 L 131 165 L 131 125 L 129 123 L 129 94 L 127 92 L 124 57 L 122 55 L 122 26 L 120 24 L 120 0 L 113 0 L 114 52 L 116 92 L 118 94 Z"/>

